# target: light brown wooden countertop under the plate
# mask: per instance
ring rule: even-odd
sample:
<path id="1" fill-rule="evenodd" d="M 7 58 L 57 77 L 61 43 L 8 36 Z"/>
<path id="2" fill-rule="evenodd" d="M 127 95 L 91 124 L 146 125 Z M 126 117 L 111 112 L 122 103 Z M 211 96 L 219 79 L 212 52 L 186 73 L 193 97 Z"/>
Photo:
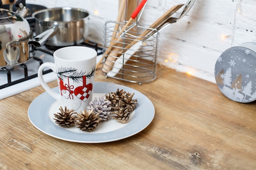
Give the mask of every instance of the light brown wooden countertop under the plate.
<path id="1" fill-rule="evenodd" d="M 44 92 L 38 86 L 0 100 L 0 170 L 256 169 L 255 102 L 233 102 L 216 84 L 162 66 L 155 81 L 142 85 L 105 78 L 100 70 L 96 81 L 129 86 L 153 102 L 151 124 L 107 143 L 56 139 L 29 121 L 29 104 Z"/>

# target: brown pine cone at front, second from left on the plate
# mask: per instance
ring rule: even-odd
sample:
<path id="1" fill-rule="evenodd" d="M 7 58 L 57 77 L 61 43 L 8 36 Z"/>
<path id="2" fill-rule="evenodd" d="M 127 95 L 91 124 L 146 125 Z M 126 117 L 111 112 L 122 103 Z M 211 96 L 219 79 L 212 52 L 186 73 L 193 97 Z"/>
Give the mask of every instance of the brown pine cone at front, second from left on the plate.
<path id="1" fill-rule="evenodd" d="M 101 117 L 99 117 L 99 113 L 95 114 L 93 109 L 81 111 L 81 114 L 77 114 L 75 124 L 78 125 L 77 128 L 80 130 L 91 132 L 95 128 L 97 128 L 98 124 L 101 122 Z"/>

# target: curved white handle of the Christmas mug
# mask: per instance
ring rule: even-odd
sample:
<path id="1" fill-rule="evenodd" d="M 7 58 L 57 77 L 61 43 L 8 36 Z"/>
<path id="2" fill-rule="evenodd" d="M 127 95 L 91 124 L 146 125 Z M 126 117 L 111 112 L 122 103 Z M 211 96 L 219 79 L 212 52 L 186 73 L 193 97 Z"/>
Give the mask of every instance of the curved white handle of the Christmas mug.
<path id="1" fill-rule="evenodd" d="M 39 82 L 41 84 L 41 86 L 45 89 L 45 91 L 47 93 L 49 93 L 49 95 L 51 95 L 54 99 L 61 101 L 61 95 L 56 93 L 55 91 L 52 90 L 52 88 L 50 88 L 47 83 L 45 82 L 45 80 L 43 79 L 43 69 L 44 68 L 51 68 L 52 71 L 54 73 L 56 73 L 56 66 L 54 63 L 51 62 L 45 62 L 42 65 L 40 65 L 40 67 L 38 68 L 38 79 Z"/>

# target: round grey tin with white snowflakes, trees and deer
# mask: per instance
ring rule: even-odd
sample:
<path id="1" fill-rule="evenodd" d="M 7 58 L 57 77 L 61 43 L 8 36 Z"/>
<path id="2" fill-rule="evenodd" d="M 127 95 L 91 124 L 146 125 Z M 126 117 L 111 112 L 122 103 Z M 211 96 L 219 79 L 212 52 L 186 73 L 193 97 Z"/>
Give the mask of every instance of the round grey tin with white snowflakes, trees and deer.
<path id="1" fill-rule="evenodd" d="M 229 99 L 248 103 L 256 99 L 256 43 L 247 42 L 224 51 L 215 64 L 215 80 Z"/>

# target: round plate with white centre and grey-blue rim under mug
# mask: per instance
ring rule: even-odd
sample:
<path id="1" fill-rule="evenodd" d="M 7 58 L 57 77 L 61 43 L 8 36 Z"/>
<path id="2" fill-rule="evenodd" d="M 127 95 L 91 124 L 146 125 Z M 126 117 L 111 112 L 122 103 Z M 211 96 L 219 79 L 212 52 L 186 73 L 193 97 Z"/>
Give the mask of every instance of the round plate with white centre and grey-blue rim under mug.
<path id="1" fill-rule="evenodd" d="M 124 89 L 129 93 L 135 93 L 133 99 L 138 100 L 138 104 L 126 124 L 109 119 L 102 121 L 92 132 L 84 132 L 76 127 L 61 128 L 53 120 L 53 114 L 59 112 L 58 108 L 61 105 L 47 92 L 42 93 L 31 102 L 28 109 L 29 120 L 38 130 L 65 141 L 102 143 L 130 137 L 141 132 L 151 123 L 155 115 L 155 108 L 150 99 L 144 94 L 119 84 L 94 82 L 94 97 L 116 92 L 117 88 L 119 90 Z M 53 90 L 57 92 L 58 87 L 53 88 Z"/>

